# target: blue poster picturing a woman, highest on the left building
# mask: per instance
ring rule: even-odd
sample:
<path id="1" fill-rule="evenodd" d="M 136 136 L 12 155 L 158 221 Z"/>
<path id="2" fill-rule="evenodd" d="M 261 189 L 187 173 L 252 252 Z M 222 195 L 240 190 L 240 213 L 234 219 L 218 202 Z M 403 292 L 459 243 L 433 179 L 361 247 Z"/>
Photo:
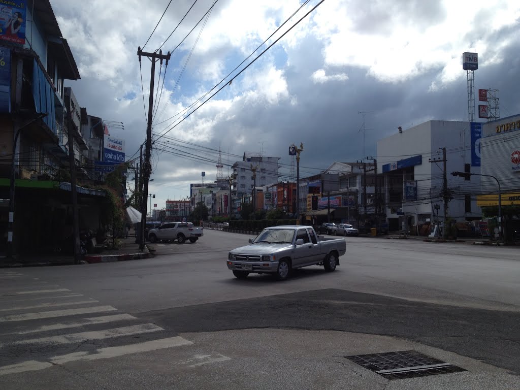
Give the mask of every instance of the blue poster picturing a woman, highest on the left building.
<path id="1" fill-rule="evenodd" d="M 0 41 L 25 44 L 25 8 L 19 0 L 0 0 Z"/>

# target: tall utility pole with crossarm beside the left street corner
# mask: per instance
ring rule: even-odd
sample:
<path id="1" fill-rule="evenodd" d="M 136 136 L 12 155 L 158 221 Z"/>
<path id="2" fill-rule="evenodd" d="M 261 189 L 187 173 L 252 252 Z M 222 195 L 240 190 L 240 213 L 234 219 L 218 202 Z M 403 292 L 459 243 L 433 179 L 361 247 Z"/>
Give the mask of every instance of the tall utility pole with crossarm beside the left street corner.
<path id="1" fill-rule="evenodd" d="M 147 53 L 146 51 L 142 51 L 141 47 L 137 48 L 137 56 L 139 57 L 139 62 L 141 62 L 141 57 L 149 57 L 152 60 L 152 66 L 150 71 L 150 98 L 148 100 L 148 123 L 146 128 L 146 147 L 145 147 L 145 162 L 141 163 L 141 171 L 142 171 L 142 203 L 141 203 L 141 242 L 139 243 L 139 249 L 142 251 L 145 249 L 145 227 L 146 227 L 146 197 L 148 193 L 148 181 L 150 180 L 150 175 L 152 172 L 152 167 L 150 164 L 150 154 L 152 149 L 152 114 L 153 114 L 153 86 L 155 83 L 155 62 L 160 60 L 161 65 L 162 61 L 166 60 L 166 66 L 168 64 L 168 60 L 170 60 L 170 51 L 168 51 L 167 55 L 162 54 L 162 50 L 159 50 L 159 53 Z"/>

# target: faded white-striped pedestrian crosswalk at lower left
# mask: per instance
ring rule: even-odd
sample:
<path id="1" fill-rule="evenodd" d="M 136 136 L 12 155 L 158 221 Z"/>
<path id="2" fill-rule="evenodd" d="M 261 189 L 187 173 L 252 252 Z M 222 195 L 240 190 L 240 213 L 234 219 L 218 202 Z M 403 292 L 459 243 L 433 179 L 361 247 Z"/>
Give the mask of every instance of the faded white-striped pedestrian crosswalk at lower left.
<path id="1" fill-rule="evenodd" d="M 23 270 L 0 269 L 0 377 L 192 344 L 155 323 Z M 219 355 L 207 361 L 226 360 Z"/>

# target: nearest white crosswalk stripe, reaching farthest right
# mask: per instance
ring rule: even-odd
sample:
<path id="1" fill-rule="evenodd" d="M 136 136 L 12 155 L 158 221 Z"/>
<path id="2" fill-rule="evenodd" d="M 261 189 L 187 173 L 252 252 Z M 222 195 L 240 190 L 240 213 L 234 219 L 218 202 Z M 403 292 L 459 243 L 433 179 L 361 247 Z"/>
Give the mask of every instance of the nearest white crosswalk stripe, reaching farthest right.
<path id="1" fill-rule="evenodd" d="M 50 361 L 55 364 L 63 364 L 77 360 L 108 359 L 129 354 L 150 352 L 158 349 L 180 347 L 183 345 L 192 344 L 193 342 L 183 339 L 183 337 L 175 336 L 169 337 L 168 339 L 151 340 L 144 343 L 123 345 L 120 347 L 100 348 L 95 354 L 89 354 L 88 352 L 76 352 L 68 355 L 55 356 L 51 358 Z"/>

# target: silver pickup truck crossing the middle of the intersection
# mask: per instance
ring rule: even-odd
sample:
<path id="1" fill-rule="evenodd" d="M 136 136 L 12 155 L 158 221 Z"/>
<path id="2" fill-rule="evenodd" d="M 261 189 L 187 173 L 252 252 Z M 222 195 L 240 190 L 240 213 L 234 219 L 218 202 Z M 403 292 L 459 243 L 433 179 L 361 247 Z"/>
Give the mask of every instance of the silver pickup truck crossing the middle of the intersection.
<path id="1" fill-rule="evenodd" d="M 254 273 L 284 280 L 291 270 L 309 265 L 332 272 L 346 250 L 343 238 L 323 238 L 312 227 L 299 225 L 268 227 L 249 243 L 228 253 L 228 269 L 239 279 Z"/>

